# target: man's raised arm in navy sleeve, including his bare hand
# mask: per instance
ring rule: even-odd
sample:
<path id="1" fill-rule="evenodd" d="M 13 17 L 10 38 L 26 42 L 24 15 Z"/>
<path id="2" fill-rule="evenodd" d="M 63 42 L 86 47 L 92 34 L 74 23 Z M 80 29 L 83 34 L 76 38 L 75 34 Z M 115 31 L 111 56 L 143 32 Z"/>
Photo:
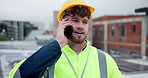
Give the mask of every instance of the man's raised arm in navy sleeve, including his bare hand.
<path id="1" fill-rule="evenodd" d="M 55 41 L 43 46 L 32 56 L 27 58 L 24 63 L 21 63 L 21 66 L 17 65 L 18 67 L 20 66 L 17 72 L 19 72 L 18 75 L 20 75 L 21 78 L 38 78 L 46 67 L 50 67 L 57 61 L 62 53 L 61 48 L 68 42 L 64 35 L 65 28 L 72 25 L 68 20 L 69 17 L 59 22 Z M 16 72 L 18 67 L 16 67 L 12 73 L 10 72 L 9 78 L 14 77 L 13 75 L 16 74 L 14 74 L 14 72 Z"/>

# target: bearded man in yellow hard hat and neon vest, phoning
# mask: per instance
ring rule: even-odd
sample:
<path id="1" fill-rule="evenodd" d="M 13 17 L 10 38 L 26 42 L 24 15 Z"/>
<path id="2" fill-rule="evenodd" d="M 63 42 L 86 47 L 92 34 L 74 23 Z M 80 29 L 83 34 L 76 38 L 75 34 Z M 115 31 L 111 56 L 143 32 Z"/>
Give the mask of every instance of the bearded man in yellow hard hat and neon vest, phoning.
<path id="1" fill-rule="evenodd" d="M 9 78 L 122 78 L 115 61 L 86 40 L 93 12 L 83 0 L 67 0 L 58 13 L 56 40 L 19 62 Z M 64 35 L 68 26 L 73 27 L 69 39 Z"/>

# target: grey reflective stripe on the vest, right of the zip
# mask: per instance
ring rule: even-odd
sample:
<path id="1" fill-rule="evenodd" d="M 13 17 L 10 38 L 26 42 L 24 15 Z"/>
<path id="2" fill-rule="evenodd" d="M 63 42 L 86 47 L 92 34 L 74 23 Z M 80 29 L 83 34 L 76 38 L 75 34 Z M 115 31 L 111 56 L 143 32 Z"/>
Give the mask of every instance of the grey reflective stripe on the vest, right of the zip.
<path id="1" fill-rule="evenodd" d="M 107 78 L 107 64 L 105 53 L 99 49 L 98 51 L 98 63 L 100 68 L 100 78 Z"/>

